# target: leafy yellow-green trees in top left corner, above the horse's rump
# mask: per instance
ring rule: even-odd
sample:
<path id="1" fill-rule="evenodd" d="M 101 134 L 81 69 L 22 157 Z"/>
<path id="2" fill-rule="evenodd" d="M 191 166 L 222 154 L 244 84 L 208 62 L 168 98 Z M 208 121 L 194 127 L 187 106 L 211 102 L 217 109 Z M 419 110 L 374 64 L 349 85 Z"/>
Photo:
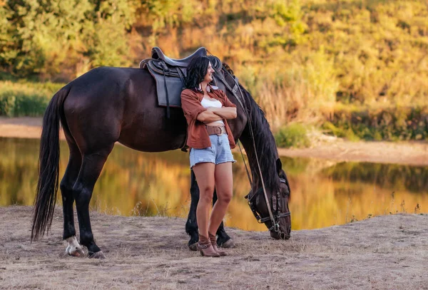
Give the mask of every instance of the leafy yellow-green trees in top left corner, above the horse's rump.
<path id="1" fill-rule="evenodd" d="M 90 66 L 128 61 L 126 29 L 135 21 L 131 1 L 26 0 L 0 6 L 1 66 L 16 76 L 70 78 Z"/>

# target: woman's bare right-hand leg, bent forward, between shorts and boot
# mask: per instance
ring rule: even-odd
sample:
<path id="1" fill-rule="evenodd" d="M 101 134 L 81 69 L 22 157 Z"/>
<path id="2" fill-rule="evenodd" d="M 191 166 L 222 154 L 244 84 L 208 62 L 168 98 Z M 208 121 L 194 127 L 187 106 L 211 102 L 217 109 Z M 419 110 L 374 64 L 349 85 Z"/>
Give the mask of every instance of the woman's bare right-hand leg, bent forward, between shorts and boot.
<path id="1" fill-rule="evenodd" d="M 225 217 L 230 200 L 233 194 L 233 174 L 232 162 L 225 162 L 215 165 L 215 192 L 218 200 L 215 202 L 213 212 L 211 212 L 208 232 L 215 235 L 221 221 Z"/>

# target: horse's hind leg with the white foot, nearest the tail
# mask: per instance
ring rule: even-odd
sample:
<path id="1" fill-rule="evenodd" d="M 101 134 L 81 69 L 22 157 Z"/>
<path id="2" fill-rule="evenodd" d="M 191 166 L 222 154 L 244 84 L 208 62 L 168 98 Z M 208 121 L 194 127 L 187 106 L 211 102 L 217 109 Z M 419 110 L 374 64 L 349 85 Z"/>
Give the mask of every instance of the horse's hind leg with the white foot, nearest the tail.
<path id="1" fill-rule="evenodd" d="M 76 229 L 74 228 L 73 213 L 73 185 L 76 182 L 78 172 L 81 167 L 82 157 L 76 144 L 67 138 L 68 147 L 70 148 L 70 157 L 66 172 L 61 180 L 61 196 L 63 202 L 63 239 L 66 239 L 68 246 L 66 254 L 76 257 L 83 257 L 84 252 L 76 239 Z"/>

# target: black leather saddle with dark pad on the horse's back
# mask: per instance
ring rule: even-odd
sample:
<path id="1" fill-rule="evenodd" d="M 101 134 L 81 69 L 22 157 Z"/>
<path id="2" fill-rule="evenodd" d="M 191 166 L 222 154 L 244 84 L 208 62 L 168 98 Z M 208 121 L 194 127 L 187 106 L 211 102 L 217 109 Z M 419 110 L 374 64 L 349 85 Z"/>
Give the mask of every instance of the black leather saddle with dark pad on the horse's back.
<path id="1" fill-rule="evenodd" d="M 161 48 L 153 47 L 151 58 L 140 62 L 140 68 L 147 69 L 155 78 L 158 105 L 166 107 L 167 118 L 170 118 L 170 107 L 181 108 L 180 96 L 181 91 L 185 89 L 187 67 L 190 61 L 198 56 L 207 56 L 207 50 L 201 47 L 186 58 L 173 59 L 165 56 Z M 215 71 L 220 72 L 222 68 L 220 59 L 216 56 L 208 58 Z M 225 90 L 223 83 L 215 82 L 215 85 Z"/>

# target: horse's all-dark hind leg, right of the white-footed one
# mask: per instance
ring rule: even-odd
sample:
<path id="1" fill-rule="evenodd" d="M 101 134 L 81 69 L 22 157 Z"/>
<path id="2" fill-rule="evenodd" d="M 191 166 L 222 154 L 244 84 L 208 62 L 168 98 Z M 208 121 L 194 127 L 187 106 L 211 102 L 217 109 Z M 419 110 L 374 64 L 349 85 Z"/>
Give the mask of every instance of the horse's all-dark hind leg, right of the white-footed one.
<path id="1" fill-rule="evenodd" d="M 89 218 L 89 202 L 91 201 L 93 187 L 103 169 L 113 145 L 104 150 L 98 150 L 91 154 L 84 154 L 81 170 L 78 173 L 76 183 L 73 186 L 73 195 L 76 200 L 80 242 L 88 248 L 88 257 L 103 259 L 104 254 L 93 240 L 91 220 Z"/>

